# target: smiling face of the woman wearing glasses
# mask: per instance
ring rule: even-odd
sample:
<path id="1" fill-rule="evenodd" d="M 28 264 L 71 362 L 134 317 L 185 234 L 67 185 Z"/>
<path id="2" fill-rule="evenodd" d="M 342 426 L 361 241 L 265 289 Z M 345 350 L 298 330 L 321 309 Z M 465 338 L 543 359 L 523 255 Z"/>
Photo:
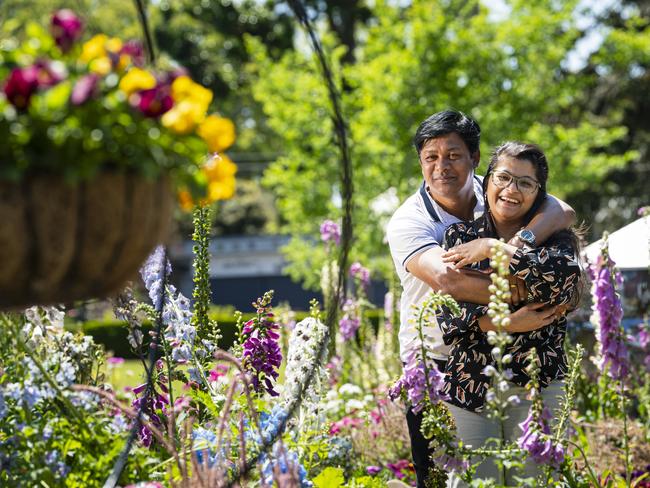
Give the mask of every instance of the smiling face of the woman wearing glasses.
<path id="1" fill-rule="evenodd" d="M 487 199 L 496 223 L 523 223 L 539 192 L 535 166 L 525 159 L 501 156 L 487 186 Z"/>

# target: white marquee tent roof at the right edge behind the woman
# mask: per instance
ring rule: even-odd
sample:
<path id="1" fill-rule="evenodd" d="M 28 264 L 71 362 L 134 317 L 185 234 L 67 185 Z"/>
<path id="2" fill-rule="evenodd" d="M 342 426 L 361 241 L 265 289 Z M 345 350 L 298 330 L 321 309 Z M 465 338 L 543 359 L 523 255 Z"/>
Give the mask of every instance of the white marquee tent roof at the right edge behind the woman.
<path id="1" fill-rule="evenodd" d="M 650 217 L 642 217 L 609 234 L 609 255 L 621 269 L 648 269 L 650 265 Z M 600 253 L 602 239 L 589 244 L 583 256 L 593 262 Z"/>

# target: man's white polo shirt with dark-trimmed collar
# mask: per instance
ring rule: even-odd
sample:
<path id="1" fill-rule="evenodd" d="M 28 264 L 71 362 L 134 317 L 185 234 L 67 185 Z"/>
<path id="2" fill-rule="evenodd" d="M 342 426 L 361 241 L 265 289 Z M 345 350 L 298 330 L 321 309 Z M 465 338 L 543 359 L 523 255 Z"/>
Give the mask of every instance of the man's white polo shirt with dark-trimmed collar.
<path id="1" fill-rule="evenodd" d="M 476 206 L 474 218 L 483 214 L 482 177 L 474 177 Z M 386 229 L 388 245 L 395 263 L 397 275 L 402 282 L 400 306 L 399 344 L 400 357 L 406 362 L 406 352 L 420 347 L 414 317 L 414 308 L 419 305 L 431 287 L 406 270 L 406 265 L 414 256 L 435 246 L 440 246 L 445 230 L 460 219 L 444 211 L 426 191 L 424 183 L 393 214 Z M 445 359 L 449 347 L 442 342 L 442 334 L 437 323 L 423 327 L 427 348 L 439 359 Z"/>

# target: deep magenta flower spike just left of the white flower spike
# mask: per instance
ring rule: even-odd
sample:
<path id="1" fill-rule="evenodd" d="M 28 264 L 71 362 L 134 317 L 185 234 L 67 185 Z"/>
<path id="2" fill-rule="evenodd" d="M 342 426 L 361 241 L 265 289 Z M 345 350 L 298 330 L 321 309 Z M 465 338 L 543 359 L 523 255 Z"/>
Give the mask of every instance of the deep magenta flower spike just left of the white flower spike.
<path id="1" fill-rule="evenodd" d="M 258 298 L 253 306 L 257 316 L 244 324 L 242 329 L 244 368 L 251 373 L 253 387 L 257 392 L 266 390 L 272 396 L 278 393 L 273 389 L 273 381 L 278 377 L 278 368 L 282 363 L 282 351 L 276 332 L 278 324 L 273 320 L 271 299 L 273 291 L 266 292 Z"/>

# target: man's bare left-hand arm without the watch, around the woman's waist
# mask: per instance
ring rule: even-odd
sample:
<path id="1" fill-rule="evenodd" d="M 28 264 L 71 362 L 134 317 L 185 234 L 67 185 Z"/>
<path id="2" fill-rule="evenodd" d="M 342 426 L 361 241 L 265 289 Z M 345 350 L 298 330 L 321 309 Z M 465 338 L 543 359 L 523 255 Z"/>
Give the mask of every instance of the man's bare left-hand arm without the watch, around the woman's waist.
<path id="1" fill-rule="evenodd" d="M 476 271 L 455 269 L 443 263 L 443 252 L 444 249 L 436 246 L 412 257 L 406 265 L 409 273 L 433 290 L 448 293 L 457 301 L 488 303 L 490 278 Z"/>

